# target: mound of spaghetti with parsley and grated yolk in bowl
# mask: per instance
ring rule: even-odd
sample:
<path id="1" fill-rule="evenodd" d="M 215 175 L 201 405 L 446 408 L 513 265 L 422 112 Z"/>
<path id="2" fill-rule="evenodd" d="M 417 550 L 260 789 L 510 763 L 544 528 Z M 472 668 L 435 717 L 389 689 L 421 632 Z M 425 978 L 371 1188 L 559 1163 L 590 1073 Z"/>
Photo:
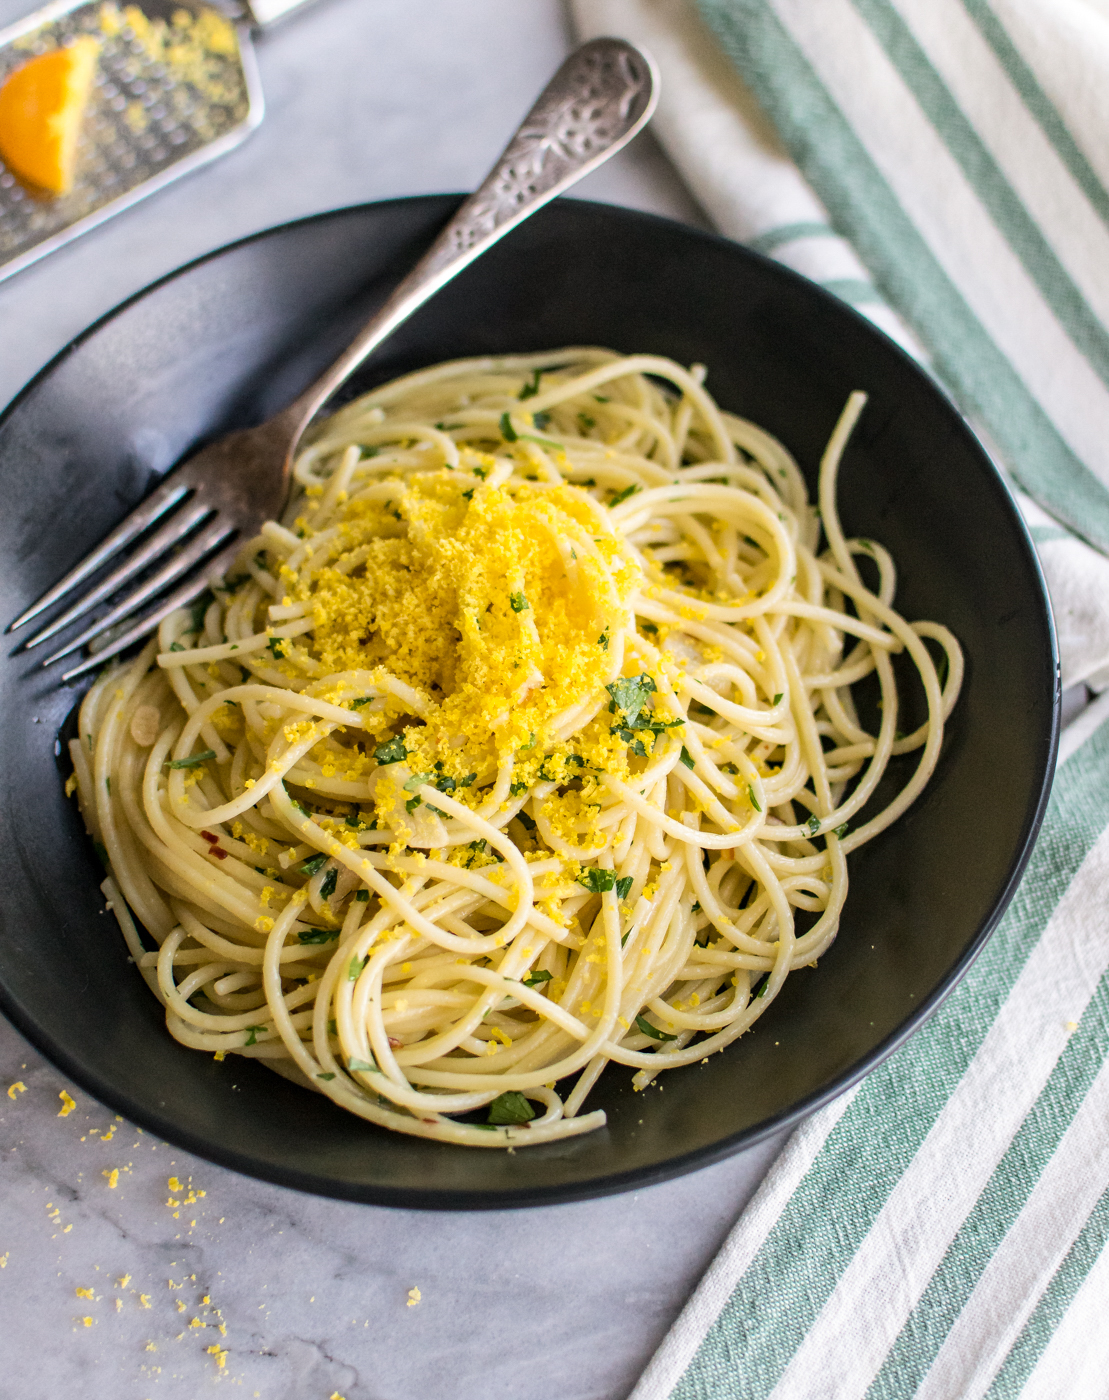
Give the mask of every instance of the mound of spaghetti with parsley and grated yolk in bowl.
<path id="1" fill-rule="evenodd" d="M 814 510 L 703 378 L 574 349 L 375 389 L 318 426 L 284 521 L 97 680 L 80 805 L 181 1043 L 525 1145 L 604 1123 L 609 1061 L 644 1088 L 815 965 L 847 854 L 928 781 L 962 654 L 840 529 L 864 395 Z"/>

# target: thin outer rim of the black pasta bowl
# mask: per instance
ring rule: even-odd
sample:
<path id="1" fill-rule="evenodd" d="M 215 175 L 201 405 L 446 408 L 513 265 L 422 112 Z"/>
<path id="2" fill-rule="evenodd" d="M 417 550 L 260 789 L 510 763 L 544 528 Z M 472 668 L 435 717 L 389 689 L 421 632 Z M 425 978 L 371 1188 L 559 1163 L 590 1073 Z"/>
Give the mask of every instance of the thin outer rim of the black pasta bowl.
<path id="1" fill-rule="evenodd" d="M 8 421 L 8 419 L 20 409 L 20 406 L 31 396 L 31 393 L 38 388 L 41 382 L 48 379 L 74 351 L 77 351 L 85 342 L 91 340 L 104 326 L 115 321 L 130 307 L 143 301 L 146 297 L 155 293 L 158 288 L 167 286 L 168 283 L 176 281 L 178 279 L 186 276 L 197 267 L 204 266 L 209 262 L 214 262 L 227 253 L 235 252 L 251 244 L 259 242 L 266 238 L 277 237 L 288 232 L 294 228 L 307 227 L 315 223 L 322 223 L 328 220 L 342 218 L 346 216 L 357 216 L 368 210 L 405 206 L 405 204 L 423 204 L 426 207 L 433 207 L 440 204 L 444 210 L 444 216 L 449 216 L 452 207 L 465 199 L 465 195 L 458 193 L 427 193 L 427 195 L 406 195 L 393 199 L 382 200 L 367 200 L 360 204 L 344 204 L 336 209 L 321 210 L 315 214 L 302 216 L 300 218 L 284 220 L 279 224 L 267 225 L 266 228 L 258 230 L 252 234 L 246 234 L 242 238 L 232 239 L 228 244 L 221 244 L 217 248 L 209 249 L 197 258 L 182 263 L 178 267 L 171 269 L 154 281 L 140 287 L 137 291 L 132 293 L 123 301 L 118 302 L 115 307 L 105 311 L 94 322 L 91 322 L 80 335 L 74 336 L 71 340 L 55 354 L 52 358 L 35 372 L 35 375 L 27 381 L 27 384 L 15 393 L 15 396 L 4 406 L 0 412 L 0 428 Z M 473 1191 L 473 1190 L 430 1190 L 427 1187 L 393 1187 L 393 1186 L 372 1186 L 365 1187 L 358 1183 L 347 1183 L 336 1180 L 333 1177 L 318 1176 L 312 1172 L 300 1170 L 297 1168 L 287 1166 L 273 1166 L 265 1161 L 249 1156 L 245 1152 L 237 1151 L 234 1148 L 227 1148 L 218 1141 L 211 1141 L 203 1138 L 200 1134 L 193 1133 L 189 1128 L 182 1128 L 174 1121 L 168 1114 L 153 1110 L 144 1103 L 137 1102 L 132 1095 L 125 1091 L 115 1088 L 108 1082 L 101 1074 L 90 1070 L 81 1063 L 78 1057 L 70 1053 L 64 1046 L 62 1046 L 49 1032 L 43 1030 L 29 1015 L 25 1015 L 18 1005 L 18 1002 L 10 997 L 7 987 L 3 980 L 0 980 L 0 1011 L 7 1016 L 7 1019 L 20 1030 L 21 1035 L 27 1037 L 28 1042 L 43 1054 L 55 1067 L 60 1068 L 64 1074 L 73 1079 L 81 1089 L 90 1093 L 94 1099 L 104 1103 L 106 1107 L 116 1113 L 123 1114 L 129 1121 L 144 1128 L 146 1131 L 155 1133 L 164 1141 L 174 1144 L 193 1155 L 203 1158 L 204 1161 L 214 1162 L 218 1166 L 227 1168 L 234 1172 L 239 1172 L 245 1176 L 255 1177 L 258 1180 L 265 1180 L 273 1186 L 281 1186 L 290 1190 L 307 1191 L 314 1196 L 329 1197 L 333 1200 L 354 1201 L 358 1204 L 379 1205 L 393 1210 L 427 1210 L 427 1211 L 486 1211 L 486 1210 L 519 1210 L 531 1208 L 539 1205 L 557 1205 L 570 1201 L 594 1200 L 604 1196 L 613 1196 L 622 1191 L 641 1189 L 647 1186 L 655 1186 L 662 1182 L 671 1180 L 678 1176 L 683 1176 L 689 1172 L 699 1170 L 704 1166 L 711 1166 L 721 1162 L 735 1154 L 752 1148 L 787 1128 L 793 1128 L 802 1120 L 811 1117 L 819 1109 L 825 1107 L 828 1103 L 840 1098 L 854 1085 L 861 1082 L 872 1070 L 888 1060 L 896 1050 L 900 1049 L 923 1025 L 927 1022 L 940 1005 L 951 995 L 955 987 L 962 981 L 970 969 L 975 959 L 979 956 L 984 948 L 987 939 L 993 934 L 994 928 L 1003 918 L 1017 886 L 1024 876 L 1025 868 L 1032 854 L 1032 848 L 1036 843 L 1039 829 L 1043 823 L 1043 818 L 1047 809 L 1047 802 L 1050 799 L 1052 784 L 1054 780 L 1056 759 L 1059 755 L 1059 736 L 1060 736 L 1060 714 L 1061 714 L 1061 683 L 1060 683 L 1060 658 L 1059 658 L 1059 638 L 1054 624 L 1054 615 L 1050 605 L 1050 598 L 1047 594 L 1046 581 L 1043 577 L 1043 570 L 1036 554 L 1035 546 L 1032 543 L 1032 536 L 1028 531 L 1024 517 L 1017 505 L 1012 489 L 1004 470 L 994 461 L 993 451 L 983 442 L 980 434 L 976 431 L 975 426 L 968 420 L 962 409 L 954 402 L 944 386 L 937 382 L 931 375 L 927 375 L 917 360 L 914 360 L 896 340 L 886 335 L 879 326 L 877 326 L 870 318 L 864 316 L 857 308 L 844 302 L 840 297 L 828 291 L 819 283 L 811 281 L 808 277 L 791 267 L 776 262 L 773 258 L 759 253 L 745 244 L 737 239 L 727 238 L 723 234 L 717 234 L 709 230 L 702 230 L 690 224 L 683 224 L 679 220 L 669 218 L 662 214 L 654 214 L 647 210 L 632 209 L 623 204 L 609 204 L 599 200 L 585 200 L 574 199 L 569 196 L 560 196 L 557 200 L 552 202 L 557 206 L 577 206 L 580 209 L 602 209 L 606 214 L 618 214 L 627 217 L 636 223 L 655 223 L 671 231 L 678 230 L 685 237 L 696 239 L 704 239 L 711 245 L 724 246 L 730 253 L 739 253 L 744 258 L 749 258 L 766 269 L 770 269 L 776 276 L 783 277 L 786 281 L 794 284 L 801 284 L 808 295 L 815 295 L 816 298 L 825 300 L 836 307 L 842 312 L 847 312 L 857 321 L 863 322 L 867 329 L 881 337 L 885 342 L 886 350 L 892 351 L 896 357 L 905 361 L 912 370 L 923 377 L 930 389 L 937 393 L 947 405 L 949 412 L 958 419 L 963 430 L 970 435 L 976 447 L 979 448 L 984 462 L 993 469 L 996 476 L 996 484 L 1001 487 L 1001 498 L 1004 500 L 1012 522 L 1017 526 L 1017 533 L 1019 542 L 1026 554 L 1026 561 L 1031 566 L 1031 574 L 1039 585 L 1039 601 L 1043 609 L 1043 622 L 1046 624 L 1046 631 L 1050 645 L 1050 664 L 1053 673 L 1053 687 L 1052 687 L 1052 708 L 1050 708 L 1050 724 L 1047 725 L 1047 732 L 1043 735 L 1043 771 L 1039 781 L 1039 791 L 1035 802 L 1029 804 L 1025 820 L 1021 827 L 1021 836 L 1015 844 L 1012 860 L 1010 862 L 1008 872 L 1005 875 L 1004 883 L 994 899 L 990 914 L 982 921 L 979 928 L 975 931 L 973 937 L 968 941 L 961 956 L 952 963 L 948 972 L 940 979 L 933 991 L 924 997 L 913 1011 L 903 1018 L 898 1028 L 891 1032 L 884 1040 L 874 1046 L 867 1054 L 864 1054 L 857 1063 L 850 1065 L 847 1070 L 836 1075 L 828 1085 L 812 1093 L 805 1095 L 793 1103 L 788 1109 L 783 1109 L 780 1113 L 773 1114 L 760 1123 L 741 1128 L 737 1133 L 731 1133 L 727 1137 L 718 1138 L 717 1141 L 693 1148 L 688 1152 L 678 1154 L 675 1156 L 667 1158 L 662 1162 L 651 1163 L 648 1166 L 632 1168 L 622 1172 L 611 1172 L 605 1176 L 590 1177 L 580 1182 L 559 1183 L 554 1186 L 529 1186 L 518 1189 L 496 1189 L 490 1191 Z M 1046 742 L 1045 742 L 1046 741 Z"/>

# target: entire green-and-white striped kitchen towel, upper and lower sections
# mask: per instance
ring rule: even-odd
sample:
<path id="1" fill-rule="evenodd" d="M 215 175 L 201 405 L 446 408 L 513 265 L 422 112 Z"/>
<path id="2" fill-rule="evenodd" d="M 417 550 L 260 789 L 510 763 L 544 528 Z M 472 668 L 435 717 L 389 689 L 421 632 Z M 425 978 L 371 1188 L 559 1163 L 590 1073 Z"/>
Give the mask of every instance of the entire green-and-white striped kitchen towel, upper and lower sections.
<path id="1" fill-rule="evenodd" d="M 571 3 L 654 52 L 721 232 L 947 385 L 1109 686 L 1109 0 Z M 1109 1397 L 1108 893 L 1109 693 L 968 977 L 793 1135 L 632 1400 Z"/>

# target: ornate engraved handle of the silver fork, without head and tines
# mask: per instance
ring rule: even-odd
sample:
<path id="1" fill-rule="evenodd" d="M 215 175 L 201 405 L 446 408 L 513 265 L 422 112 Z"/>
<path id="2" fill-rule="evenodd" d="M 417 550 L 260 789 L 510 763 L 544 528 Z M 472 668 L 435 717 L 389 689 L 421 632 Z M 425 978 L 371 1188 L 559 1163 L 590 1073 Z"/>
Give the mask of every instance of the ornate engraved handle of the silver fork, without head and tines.
<path id="1" fill-rule="evenodd" d="M 279 0 L 280 3 L 280 0 Z M 288 410 L 307 426 L 386 336 L 440 287 L 536 209 L 597 169 L 647 123 L 658 99 L 654 62 L 623 39 L 570 55 L 469 196 L 361 335 Z"/>

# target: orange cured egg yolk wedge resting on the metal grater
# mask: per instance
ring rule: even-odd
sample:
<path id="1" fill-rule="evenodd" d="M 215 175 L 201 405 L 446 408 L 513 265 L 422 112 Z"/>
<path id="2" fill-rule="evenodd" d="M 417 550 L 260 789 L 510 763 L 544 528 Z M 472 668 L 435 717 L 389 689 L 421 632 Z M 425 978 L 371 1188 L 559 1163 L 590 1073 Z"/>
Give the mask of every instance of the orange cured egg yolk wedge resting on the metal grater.
<path id="1" fill-rule="evenodd" d="M 31 59 L 0 87 L 0 160 L 52 195 L 73 188 L 77 137 L 97 73 L 91 36 Z"/>

